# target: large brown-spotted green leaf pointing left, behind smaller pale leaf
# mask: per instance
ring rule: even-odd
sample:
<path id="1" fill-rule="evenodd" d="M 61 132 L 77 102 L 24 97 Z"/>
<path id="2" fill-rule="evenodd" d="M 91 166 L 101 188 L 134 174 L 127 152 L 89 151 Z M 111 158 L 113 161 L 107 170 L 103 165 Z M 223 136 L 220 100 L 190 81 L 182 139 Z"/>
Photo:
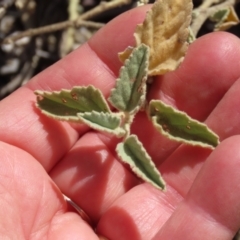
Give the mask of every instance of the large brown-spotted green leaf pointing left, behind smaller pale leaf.
<path id="1" fill-rule="evenodd" d="M 93 86 L 74 87 L 72 90 L 35 91 L 37 107 L 58 120 L 79 121 L 81 112 L 110 112 L 104 96 Z"/>

